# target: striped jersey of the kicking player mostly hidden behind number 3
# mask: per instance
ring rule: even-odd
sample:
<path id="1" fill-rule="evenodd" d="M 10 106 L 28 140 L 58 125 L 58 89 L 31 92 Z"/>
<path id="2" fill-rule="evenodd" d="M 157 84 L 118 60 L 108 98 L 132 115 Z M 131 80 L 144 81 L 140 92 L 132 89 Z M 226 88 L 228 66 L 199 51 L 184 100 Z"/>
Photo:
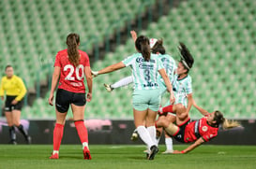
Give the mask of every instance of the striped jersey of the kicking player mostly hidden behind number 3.
<path id="1" fill-rule="evenodd" d="M 174 72 L 177 68 L 177 64 L 175 63 L 175 60 L 169 54 L 158 54 L 158 58 L 163 63 L 166 74 L 168 75 L 172 83 Z M 164 84 L 164 80 L 161 76 L 159 76 L 159 80 Z"/>

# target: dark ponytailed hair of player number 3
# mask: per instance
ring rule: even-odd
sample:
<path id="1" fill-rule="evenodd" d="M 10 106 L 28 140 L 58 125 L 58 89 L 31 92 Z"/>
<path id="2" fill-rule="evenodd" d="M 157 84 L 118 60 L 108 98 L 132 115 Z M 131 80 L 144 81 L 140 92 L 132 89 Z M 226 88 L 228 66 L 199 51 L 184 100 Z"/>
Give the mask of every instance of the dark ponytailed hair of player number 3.
<path id="1" fill-rule="evenodd" d="M 138 49 L 143 54 L 143 59 L 145 61 L 150 60 L 150 46 L 149 46 L 149 39 L 144 36 L 140 35 L 135 41 L 136 49 Z"/>

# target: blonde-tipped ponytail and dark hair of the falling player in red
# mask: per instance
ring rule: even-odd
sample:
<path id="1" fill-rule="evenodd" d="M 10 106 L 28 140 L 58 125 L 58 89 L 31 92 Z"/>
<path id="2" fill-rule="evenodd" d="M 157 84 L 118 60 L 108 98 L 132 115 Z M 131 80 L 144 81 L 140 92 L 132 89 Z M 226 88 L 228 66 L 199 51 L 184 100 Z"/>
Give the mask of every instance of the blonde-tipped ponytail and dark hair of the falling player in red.
<path id="1" fill-rule="evenodd" d="M 231 129 L 231 128 L 234 128 L 234 127 L 239 127 L 241 126 L 239 124 L 239 122 L 237 121 L 234 121 L 234 120 L 226 120 L 224 117 L 223 117 L 223 114 L 220 112 L 220 111 L 215 111 L 215 116 L 214 116 L 214 120 L 216 120 L 216 124 L 219 125 L 219 124 L 222 124 L 222 127 L 223 129 Z"/>

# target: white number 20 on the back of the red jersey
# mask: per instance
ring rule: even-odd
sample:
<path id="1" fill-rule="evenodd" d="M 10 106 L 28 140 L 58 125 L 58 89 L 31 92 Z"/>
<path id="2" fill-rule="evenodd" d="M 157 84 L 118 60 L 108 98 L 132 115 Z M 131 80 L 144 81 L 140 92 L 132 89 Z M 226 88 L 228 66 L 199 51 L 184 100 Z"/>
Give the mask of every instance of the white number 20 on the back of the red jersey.
<path id="1" fill-rule="evenodd" d="M 75 71 L 75 75 L 76 75 L 77 79 L 78 79 L 78 80 L 82 80 L 82 78 L 83 78 L 83 64 L 79 64 L 79 65 L 76 67 L 76 70 L 75 70 L 75 68 L 74 68 L 73 65 L 67 64 L 67 65 L 65 65 L 65 67 L 64 67 L 64 71 L 66 72 L 66 71 L 68 71 L 68 69 L 69 69 L 69 73 L 68 73 L 68 76 L 65 77 L 65 79 L 67 79 L 67 80 L 75 80 L 75 77 L 72 77 L 72 75 L 73 75 L 73 73 L 74 73 L 74 71 Z M 81 76 L 79 75 L 80 69 L 82 69 L 82 75 L 81 75 Z"/>

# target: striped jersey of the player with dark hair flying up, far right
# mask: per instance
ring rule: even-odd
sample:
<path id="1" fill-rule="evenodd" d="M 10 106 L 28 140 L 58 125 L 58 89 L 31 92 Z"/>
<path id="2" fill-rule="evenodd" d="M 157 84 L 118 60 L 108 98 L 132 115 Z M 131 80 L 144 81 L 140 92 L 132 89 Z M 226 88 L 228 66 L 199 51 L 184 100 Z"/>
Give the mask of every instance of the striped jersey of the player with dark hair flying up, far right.
<path id="1" fill-rule="evenodd" d="M 173 93 L 175 96 L 175 103 L 188 106 L 187 95 L 192 93 L 192 79 L 188 75 L 182 79 L 178 79 L 178 75 L 174 75 L 173 78 Z"/>

